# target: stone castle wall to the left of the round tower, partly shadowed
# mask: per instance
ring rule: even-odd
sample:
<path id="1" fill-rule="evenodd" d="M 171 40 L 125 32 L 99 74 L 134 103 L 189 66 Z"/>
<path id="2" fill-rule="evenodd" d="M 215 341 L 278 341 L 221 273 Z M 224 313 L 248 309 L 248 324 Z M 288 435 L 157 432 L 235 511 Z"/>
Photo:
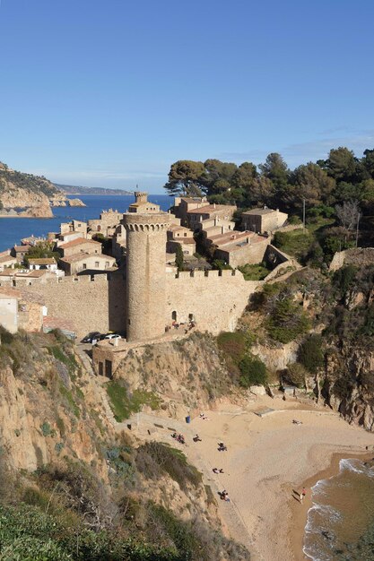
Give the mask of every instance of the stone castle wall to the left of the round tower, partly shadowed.
<path id="1" fill-rule="evenodd" d="M 2 286 L 13 286 L 12 282 Z M 68 319 L 74 324 L 78 339 L 92 331 L 126 331 L 126 283 L 121 275 L 63 277 L 30 284 L 16 280 L 16 288 L 43 298 L 48 315 Z"/>

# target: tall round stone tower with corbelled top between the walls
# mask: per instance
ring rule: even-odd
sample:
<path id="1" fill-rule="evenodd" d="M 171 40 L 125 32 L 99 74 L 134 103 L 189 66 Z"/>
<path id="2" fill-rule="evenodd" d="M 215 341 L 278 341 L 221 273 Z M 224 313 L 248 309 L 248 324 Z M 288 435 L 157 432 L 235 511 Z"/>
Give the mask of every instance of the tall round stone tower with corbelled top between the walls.
<path id="1" fill-rule="evenodd" d="M 165 332 L 166 212 L 126 212 L 127 341 L 147 341 Z"/>

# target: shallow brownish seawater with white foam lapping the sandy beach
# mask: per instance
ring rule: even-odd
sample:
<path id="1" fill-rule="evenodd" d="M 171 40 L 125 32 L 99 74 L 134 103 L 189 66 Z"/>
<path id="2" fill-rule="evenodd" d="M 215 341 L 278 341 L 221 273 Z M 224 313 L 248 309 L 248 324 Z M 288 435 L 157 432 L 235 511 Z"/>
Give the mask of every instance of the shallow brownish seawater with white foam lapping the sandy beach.
<path id="1" fill-rule="evenodd" d="M 304 553 L 312 561 L 374 560 L 374 461 L 341 460 L 312 489 Z"/>

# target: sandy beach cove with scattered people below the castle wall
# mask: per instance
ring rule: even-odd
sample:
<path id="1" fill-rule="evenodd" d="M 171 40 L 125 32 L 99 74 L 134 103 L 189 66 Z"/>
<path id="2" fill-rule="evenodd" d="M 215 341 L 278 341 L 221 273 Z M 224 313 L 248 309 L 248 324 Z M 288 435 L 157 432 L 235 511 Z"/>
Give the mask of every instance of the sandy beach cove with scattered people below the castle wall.
<path id="1" fill-rule="evenodd" d="M 274 412 L 258 417 L 255 411 L 264 408 Z M 191 421 L 202 442 L 187 442 L 185 452 L 204 470 L 215 494 L 229 492 L 230 503 L 216 496 L 231 537 L 249 546 L 254 561 L 308 559 L 302 545 L 310 488 L 335 475 L 341 458 L 368 457 L 374 435 L 329 409 L 267 396 L 245 410 L 225 404 L 204 413 L 209 420 L 197 416 Z M 218 451 L 221 440 L 227 452 Z M 213 467 L 224 473 L 215 475 Z M 307 496 L 301 505 L 296 493 L 303 486 Z"/>

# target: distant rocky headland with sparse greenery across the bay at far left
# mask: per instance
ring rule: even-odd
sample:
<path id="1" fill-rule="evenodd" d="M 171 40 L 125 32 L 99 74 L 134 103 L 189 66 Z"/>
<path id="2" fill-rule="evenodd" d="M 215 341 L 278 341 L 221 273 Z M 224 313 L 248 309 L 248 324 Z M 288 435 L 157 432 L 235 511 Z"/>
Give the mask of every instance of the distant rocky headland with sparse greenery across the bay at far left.
<path id="1" fill-rule="evenodd" d="M 3 208 L 47 208 L 49 201 L 65 198 L 65 194 L 46 177 L 15 171 L 0 162 L 0 202 Z"/>

